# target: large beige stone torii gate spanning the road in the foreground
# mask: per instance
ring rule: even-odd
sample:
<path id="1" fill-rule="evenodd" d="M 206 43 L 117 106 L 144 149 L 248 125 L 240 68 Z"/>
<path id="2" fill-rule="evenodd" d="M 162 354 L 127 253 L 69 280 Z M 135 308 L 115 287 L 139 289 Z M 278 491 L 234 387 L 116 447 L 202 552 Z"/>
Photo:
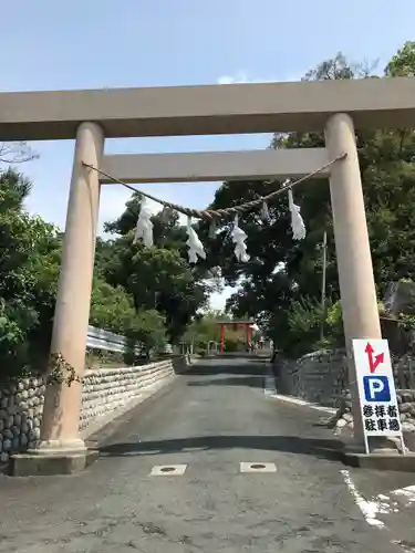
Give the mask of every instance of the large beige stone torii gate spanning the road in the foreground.
<path id="1" fill-rule="evenodd" d="M 168 182 L 303 176 L 341 158 L 319 176 L 330 178 L 354 434 L 363 445 L 351 341 L 380 338 L 381 325 L 355 126 L 415 126 L 415 79 L 0 93 L 0 140 L 76 138 L 51 351 L 83 376 L 104 182 L 84 164 L 125 181 Z M 105 138 L 276 132 L 324 132 L 325 148 L 103 155 Z M 77 382 L 48 387 L 33 466 L 39 456 L 86 462 L 81 392 Z"/>

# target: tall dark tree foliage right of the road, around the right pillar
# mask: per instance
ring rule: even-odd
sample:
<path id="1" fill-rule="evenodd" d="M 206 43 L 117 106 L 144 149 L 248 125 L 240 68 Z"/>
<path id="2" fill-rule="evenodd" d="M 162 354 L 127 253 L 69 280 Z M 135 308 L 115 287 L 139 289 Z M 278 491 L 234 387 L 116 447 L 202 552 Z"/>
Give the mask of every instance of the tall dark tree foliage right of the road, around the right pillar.
<path id="1" fill-rule="evenodd" d="M 352 64 L 343 54 L 311 70 L 304 80 L 374 77 L 375 64 Z M 413 76 L 415 42 L 407 42 L 387 64 L 384 76 Z M 415 133 L 412 129 L 357 131 L 357 148 L 364 188 L 373 265 L 378 296 L 391 281 L 414 275 L 415 260 Z M 322 147 L 323 134 L 277 134 L 273 148 Z M 282 182 L 225 182 L 216 194 L 212 208 L 222 208 L 256 196 L 264 196 Z M 333 237 L 329 184 L 313 179 L 293 191 L 300 205 L 308 234 L 294 242 L 290 230 L 287 197 L 269 206 L 271 223 L 262 225 L 258 213 L 240 222 L 248 233 L 252 255 L 247 264 L 237 263 L 231 253 L 229 228 L 211 246 L 211 263 L 222 261 L 226 281 L 241 280 L 240 290 L 228 306 L 236 315 L 259 315 L 276 343 L 288 353 L 310 349 L 319 344 L 322 282 L 323 232 L 328 232 L 326 294 L 329 309 L 339 312 L 339 281 Z M 220 260 L 220 261 L 219 261 Z M 241 279 L 242 278 L 242 279 Z M 334 309 L 334 307 L 333 307 Z M 330 313 L 329 313 L 330 315 Z M 332 325 L 333 326 L 333 325 Z M 341 344 L 338 326 L 325 321 L 325 331 Z"/>

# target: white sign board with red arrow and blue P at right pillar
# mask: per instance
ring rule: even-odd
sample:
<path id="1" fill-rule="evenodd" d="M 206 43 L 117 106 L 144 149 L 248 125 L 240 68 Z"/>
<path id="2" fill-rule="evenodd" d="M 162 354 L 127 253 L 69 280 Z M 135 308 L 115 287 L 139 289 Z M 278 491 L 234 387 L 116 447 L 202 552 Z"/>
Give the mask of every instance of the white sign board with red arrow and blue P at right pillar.
<path id="1" fill-rule="evenodd" d="M 398 436 L 402 440 L 387 340 L 353 340 L 353 354 L 366 449 L 369 436 Z"/>

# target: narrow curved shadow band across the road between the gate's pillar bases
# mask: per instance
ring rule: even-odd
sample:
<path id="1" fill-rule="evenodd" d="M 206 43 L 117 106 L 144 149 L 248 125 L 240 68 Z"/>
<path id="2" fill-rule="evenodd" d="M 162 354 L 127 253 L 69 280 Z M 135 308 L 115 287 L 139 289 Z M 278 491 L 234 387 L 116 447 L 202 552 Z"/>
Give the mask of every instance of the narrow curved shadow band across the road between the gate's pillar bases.
<path id="1" fill-rule="evenodd" d="M 299 436 L 196 436 L 168 440 L 105 445 L 100 448 L 100 453 L 101 457 L 146 457 L 163 453 L 180 453 L 188 449 L 257 449 L 309 455 L 320 459 L 336 460 L 341 442 L 336 439 L 301 438 Z"/>

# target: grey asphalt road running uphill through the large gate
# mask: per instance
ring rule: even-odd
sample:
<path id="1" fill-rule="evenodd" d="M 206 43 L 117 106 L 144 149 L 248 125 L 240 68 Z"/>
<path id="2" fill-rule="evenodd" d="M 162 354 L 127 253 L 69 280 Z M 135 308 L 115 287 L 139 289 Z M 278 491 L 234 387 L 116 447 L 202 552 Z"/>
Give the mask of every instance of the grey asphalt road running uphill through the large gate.
<path id="1" fill-rule="evenodd" d="M 0 552 L 415 551 L 415 503 L 378 513 L 380 528 L 359 495 L 415 476 L 344 471 L 325 452 L 326 416 L 267 397 L 264 367 L 194 367 L 126 415 L 82 474 L 0 478 Z M 277 471 L 241 472 L 241 462 Z M 184 474 L 149 474 L 172 465 Z"/>

